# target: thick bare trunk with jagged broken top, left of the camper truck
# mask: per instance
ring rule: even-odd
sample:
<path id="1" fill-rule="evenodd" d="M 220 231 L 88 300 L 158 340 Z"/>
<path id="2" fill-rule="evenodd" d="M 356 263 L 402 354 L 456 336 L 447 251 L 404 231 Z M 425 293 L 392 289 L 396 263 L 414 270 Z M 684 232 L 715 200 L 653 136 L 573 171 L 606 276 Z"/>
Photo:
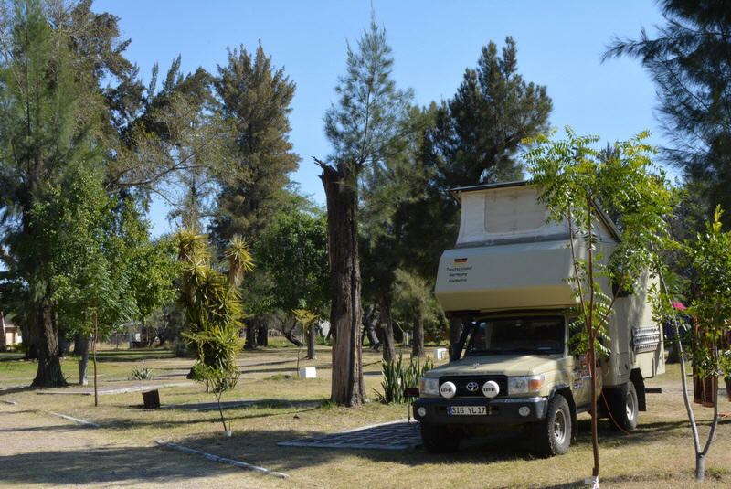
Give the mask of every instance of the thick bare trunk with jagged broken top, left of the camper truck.
<path id="1" fill-rule="evenodd" d="M 327 231 L 334 329 L 331 399 L 357 406 L 365 400 L 360 303 L 360 266 L 357 234 L 357 175 L 354 165 L 321 165 L 327 197 Z"/>

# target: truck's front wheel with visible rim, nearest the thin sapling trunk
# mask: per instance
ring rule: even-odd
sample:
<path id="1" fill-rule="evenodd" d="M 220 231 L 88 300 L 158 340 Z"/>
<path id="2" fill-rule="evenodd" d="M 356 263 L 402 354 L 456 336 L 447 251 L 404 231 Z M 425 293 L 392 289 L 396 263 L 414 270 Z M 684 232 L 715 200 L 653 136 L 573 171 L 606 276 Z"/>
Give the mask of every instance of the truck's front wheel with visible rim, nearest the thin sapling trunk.
<path id="1" fill-rule="evenodd" d="M 563 455 L 571 445 L 574 430 L 571 409 L 561 394 L 548 399 L 546 419 L 535 423 L 532 433 L 535 452 L 544 457 Z"/>

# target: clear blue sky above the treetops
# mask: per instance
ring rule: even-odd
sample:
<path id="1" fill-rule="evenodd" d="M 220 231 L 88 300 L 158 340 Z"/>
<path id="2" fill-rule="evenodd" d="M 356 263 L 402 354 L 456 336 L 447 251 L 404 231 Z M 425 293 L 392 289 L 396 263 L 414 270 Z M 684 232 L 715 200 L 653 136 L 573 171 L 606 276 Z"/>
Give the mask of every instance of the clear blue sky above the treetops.
<path id="1" fill-rule="evenodd" d="M 554 101 L 556 128 L 570 125 L 608 141 L 648 129 L 653 143 L 663 143 L 647 73 L 633 59 L 600 61 L 612 37 L 636 37 L 641 27 L 652 32 L 662 24 L 655 2 L 374 0 L 373 6 L 394 51 L 397 84 L 412 88 L 420 104 L 450 98 L 482 46 L 512 36 L 524 79 L 546 85 Z M 164 71 L 178 54 L 186 71 L 215 71 L 227 47 L 253 50 L 260 40 L 297 83 L 291 142 L 302 161 L 292 178 L 323 203 L 312 156 L 330 150 L 323 113 L 344 72 L 346 41 L 355 43 L 370 20 L 370 1 L 99 0 L 93 8 L 121 17 L 123 36 L 132 39 L 127 56 L 145 80 L 155 62 Z M 170 230 L 166 212 L 154 202 L 154 234 Z"/>

